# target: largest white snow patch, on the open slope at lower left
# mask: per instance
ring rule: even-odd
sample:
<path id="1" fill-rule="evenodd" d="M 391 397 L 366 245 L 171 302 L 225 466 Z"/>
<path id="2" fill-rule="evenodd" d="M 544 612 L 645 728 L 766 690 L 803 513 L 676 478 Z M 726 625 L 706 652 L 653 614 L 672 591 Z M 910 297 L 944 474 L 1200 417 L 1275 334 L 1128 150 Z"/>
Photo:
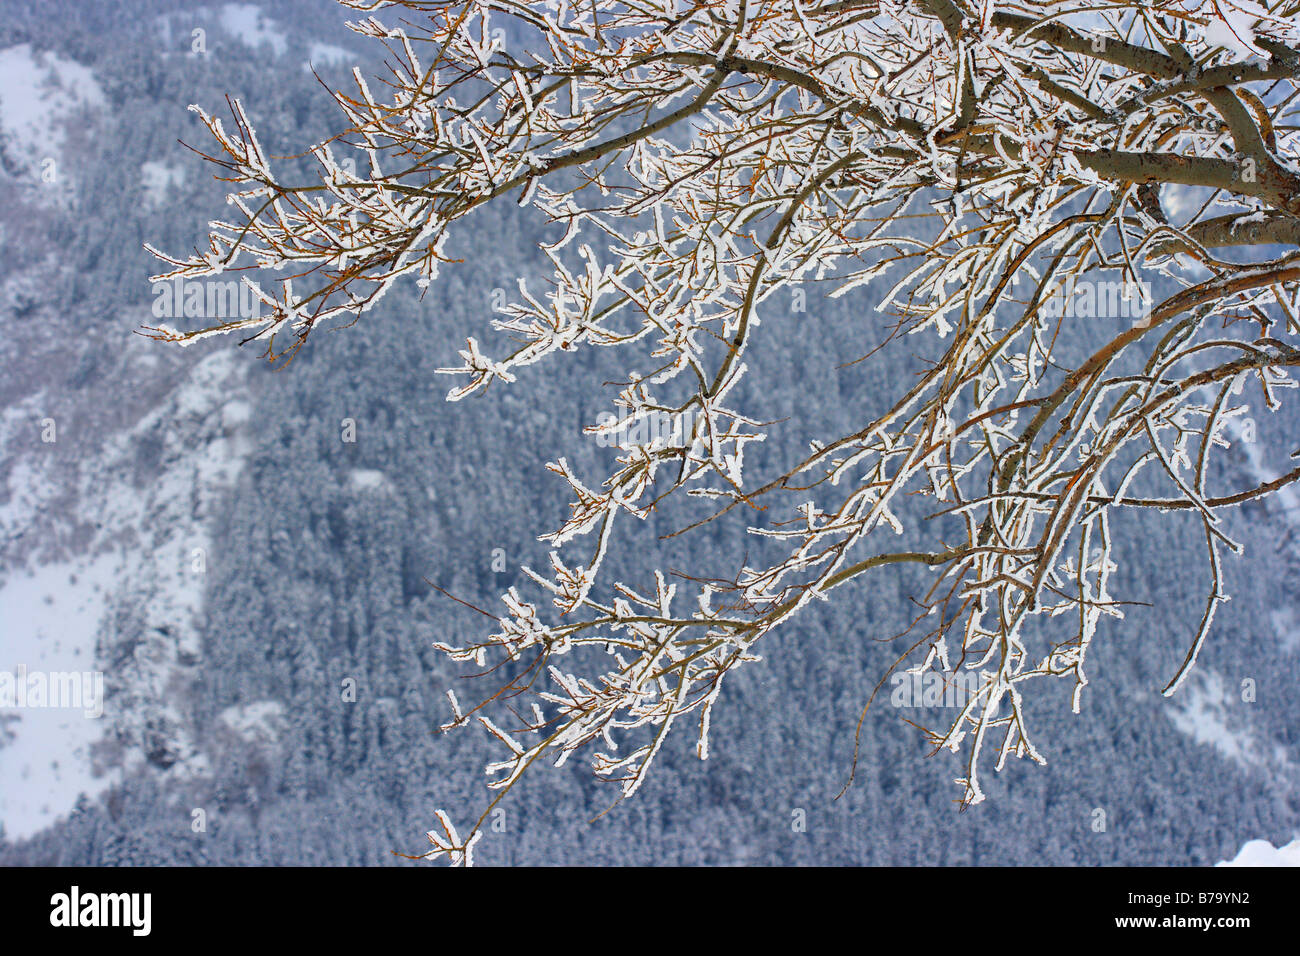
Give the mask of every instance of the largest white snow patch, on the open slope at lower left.
<path id="1" fill-rule="evenodd" d="M 207 520 L 250 447 L 246 372 L 239 356 L 214 352 L 72 470 L 60 471 L 53 447 L 39 442 L 40 420 L 53 414 L 47 395 L 36 393 L 0 415 L 0 449 L 13 458 L 0 535 L 40 535 L 51 520 L 60 528 L 100 527 L 75 553 L 53 559 L 47 554 L 43 563 L 29 558 L 0 579 L 0 671 L 103 670 L 110 696 L 101 721 L 79 710 L 0 710 L 0 718 L 17 717 L 0 726 L 0 823 L 10 839 L 49 826 L 79 795 L 95 795 L 117 779 L 92 773 L 90 748 L 109 726 L 121 734 L 161 723 L 179 757 L 169 773 L 203 771 L 176 688 L 186 685 L 202 654 L 196 617 L 203 613 L 207 568 L 221 559 L 211 553 Z M 75 420 L 58 415 L 60 428 Z M 162 449 L 155 471 L 140 476 L 138 449 L 151 438 L 161 440 Z M 53 510 L 69 492 L 75 505 Z M 96 637 L 110 627 L 105 622 L 120 604 L 136 610 L 139 643 L 127 659 L 109 667 L 96 662 Z M 261 723 L 272 717 L 254 710 L 250 719 L 259 714 Z M 254 732 L 256 723 L 235 719 L 231 726 L 243 734 Z M 129 753 L 126 766 L 142 760 Z"/>

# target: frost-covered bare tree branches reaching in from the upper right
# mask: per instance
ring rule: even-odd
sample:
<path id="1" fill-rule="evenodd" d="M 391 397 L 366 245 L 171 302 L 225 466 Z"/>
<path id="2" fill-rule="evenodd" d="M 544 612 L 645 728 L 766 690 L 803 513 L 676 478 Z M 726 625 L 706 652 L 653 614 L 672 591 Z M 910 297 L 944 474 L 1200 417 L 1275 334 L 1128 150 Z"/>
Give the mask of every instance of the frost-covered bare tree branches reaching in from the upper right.
<path id="1" fill-rule="evenodd" d="M 436 281 L 478 207 L 530 203 L 563 226 L 540 254 L 551 287 L 521 284 L 490 323 L 502 334 L 468 341 L 442 369 L 448 398 L 601 347 L 627 377 L 593 440 L 651 414 L 692 424 L 625 442 L 610 475 L 556 455 L 573 505 L 546 536 L 551 568 L 529 571 L 549 602 L 512 589 L 494 633 L 445 648 L 528 663 L 508 689 L 532 695 L 532 714 L 497 718 L 510 726 L 452 701 L 451 726 L 500 741 L 489 810 L 536 760 L 580 749 L 630 795 L 677 722 L 706 756 L 725 675 L 811 601 L 898 563 L 935 581 L 897 666 L 985 675 L 931 732 L 978 803 L 989 763 L 1044 761 L 1035 678 L 1072 682 L 1079 708 L 1097 624 L 1122 617 L 1108 581 L 1124 509 L 1204 524 L 1212 584 L 1165 691 L 1178 687 L 1226 597 L 1221 554 L 1239 550 L 1218 512 L 1300 475 L 1206 486 L 1243 388 L 1274 407 L 1300 364 L 1300 3 L 343 3 L 387 46 L 389 73 L 337 94 L 346 129 L 312 147 L 318 177 L 282 178 L 238 101 L 230 121 L 192 107 L 234 215 L 207 251 L 159 252 L 155 277 L 292 278 L 254 282 L 261 316 L 152 333 L 237 332 L 291 355 L 394 282 Z M 363 157 L 355 172 L 343 148 Z M 888 289 L 876 304 L 894 334 L 932 337 L 942 358 L 879 395 L 858 431 L 807 434 L 803 460 L 754 477 L 745 450 L 767 425 L 734 386 L 763 347 L 759 320 L 788 302 L 774 297 L 818 280 Z M 1124 290 L 1104 337 L 1062 308 L 1092 281 Z M 1148 475 L 1167 492 L 1130 494 Z M 604 580 L 620 523 L 679 492 L 701 522 L 763 512 L 753 531 L 779 557 L 728 581 Z M 905 527 L 902 496 L 918 494 L 946 518 Z M 956 537 L 889 550 L 896 532 L 944 522 Z M 584 557 L 562 557 L 581 542 Z M 430 856 L 469 862 L 486 816 L 464 834 L 439 816 Z"/>

